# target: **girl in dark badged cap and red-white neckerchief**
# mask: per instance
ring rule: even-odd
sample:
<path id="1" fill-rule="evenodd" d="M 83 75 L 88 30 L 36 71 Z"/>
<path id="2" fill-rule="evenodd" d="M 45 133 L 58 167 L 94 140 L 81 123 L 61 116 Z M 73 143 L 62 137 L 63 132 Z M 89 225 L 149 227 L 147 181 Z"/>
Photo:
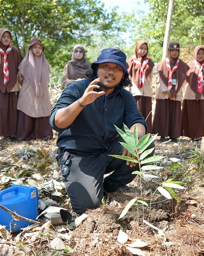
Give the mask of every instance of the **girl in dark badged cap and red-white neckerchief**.
<path id="1" fill-rule="evenodd" d="M 179 59 L 179 42 L 172 41 L 168 48 L 168 58 L 158 65 L 159 87 L 156 94 L 155 117 L 152 133 L 161 136 L 161 141 L 177 142 L 181 131 L 182 87 L 186 83 L 188 69 Z"/>

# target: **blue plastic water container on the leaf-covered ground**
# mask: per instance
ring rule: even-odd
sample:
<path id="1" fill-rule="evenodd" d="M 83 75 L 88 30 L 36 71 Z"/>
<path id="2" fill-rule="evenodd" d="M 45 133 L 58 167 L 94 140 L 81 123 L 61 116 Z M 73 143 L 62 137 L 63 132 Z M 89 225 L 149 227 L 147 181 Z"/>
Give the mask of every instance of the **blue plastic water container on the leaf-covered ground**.
<path id="1" fill-rule="evenodd" d="M 37 188 L 12 184 L 8 189 L 0 191 L 0 205 L 25 218 L 36 220 L 38 216 Z M 16 221 L 10 213 L 0 209 L 0 224 L 14 233 L 21 231 L 22 227 L 28 227 L 33 223 L 24 220 Z"/>

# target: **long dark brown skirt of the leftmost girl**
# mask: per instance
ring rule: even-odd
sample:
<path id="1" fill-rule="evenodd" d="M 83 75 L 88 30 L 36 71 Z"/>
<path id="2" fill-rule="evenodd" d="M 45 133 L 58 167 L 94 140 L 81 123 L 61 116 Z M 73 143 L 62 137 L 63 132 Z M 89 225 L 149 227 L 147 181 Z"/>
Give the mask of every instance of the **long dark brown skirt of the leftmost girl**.
<path id="1" fill-rule="evenodd" d="M 0 91 L 0 136 L 16 136 L 19 92 Z"/>

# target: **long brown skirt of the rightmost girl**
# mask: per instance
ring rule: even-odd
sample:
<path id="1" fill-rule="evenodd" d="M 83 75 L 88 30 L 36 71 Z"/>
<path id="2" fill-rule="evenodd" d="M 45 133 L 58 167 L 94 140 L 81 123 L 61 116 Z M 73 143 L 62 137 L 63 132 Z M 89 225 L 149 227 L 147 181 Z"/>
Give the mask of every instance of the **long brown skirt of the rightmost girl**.
<path id="1" fill-rule="evenodd" d="M 181 135 L 192 139 L 204 136 L 204 99 L 184 99 Z"/>

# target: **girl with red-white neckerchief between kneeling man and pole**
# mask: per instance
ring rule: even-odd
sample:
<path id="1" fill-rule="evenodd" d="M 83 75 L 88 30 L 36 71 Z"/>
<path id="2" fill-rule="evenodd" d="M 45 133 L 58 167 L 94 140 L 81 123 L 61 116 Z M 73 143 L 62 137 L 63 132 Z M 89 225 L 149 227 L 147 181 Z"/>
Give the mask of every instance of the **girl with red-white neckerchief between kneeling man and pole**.
<path id="1" fill-rule="evenodd" d="M 127 61 L 128 72 L 133 84 L 128 89 L 134 96 L 143 117 L 147 118 L 148 132 L 151 133 L 151 81 L 154 63 L 147 58 L 147 54 L 147 42 L 138 41 L 132 58 Z"/>

